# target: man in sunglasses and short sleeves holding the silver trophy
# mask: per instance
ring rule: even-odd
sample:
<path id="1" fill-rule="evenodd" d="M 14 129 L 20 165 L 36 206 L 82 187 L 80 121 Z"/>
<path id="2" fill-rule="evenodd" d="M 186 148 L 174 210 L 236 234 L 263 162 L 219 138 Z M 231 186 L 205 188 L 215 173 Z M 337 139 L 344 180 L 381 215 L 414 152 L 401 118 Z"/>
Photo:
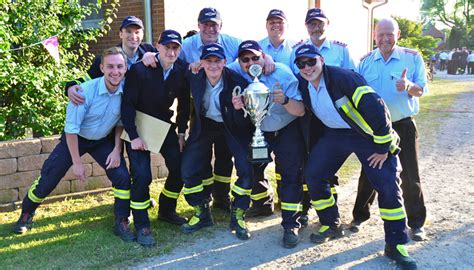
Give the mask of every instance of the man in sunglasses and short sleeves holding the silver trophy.
<path id="1" fill-rule="evenodd" d="M 256 64 L 264 68 L 265 65 L 262 48 L 256 41 L 247 40 L 240 44 L 238 55 L 239 61 L 232 63 L 229 68 L 240 73 L 248 82 L 252 82 L 253 78 L 248 74 L 250 66 Z M 301 226 L 298 219 L 302 211 L 303 190 L 300 173 L 304 144 L 297 118 L 304 114 L 304 106 L 298 91 L 298 81 L 291 70 L 281 63 L 275 63 L 275 67 L 273 73 L 261 75 L 259 78 L 260 82 L 270 89 L 274 103 L 270 114 L 263 119 L 261 129 L 270 150 L 279 161 L 282 177 L 283 246 L 293 248 L 298 244 L 298 230 Z M 233 103 L 236 109 L 244 106 L 242 99 L 233 99 Z M 262 168 L 265 169 L 265 166 L 256 166 L 255 175 L 263 174 Z M 250 195 L 250 192 L 265 194 L 268 191 L 264 185 L 254 181 L 252 190 L 247 192 Z"/>

